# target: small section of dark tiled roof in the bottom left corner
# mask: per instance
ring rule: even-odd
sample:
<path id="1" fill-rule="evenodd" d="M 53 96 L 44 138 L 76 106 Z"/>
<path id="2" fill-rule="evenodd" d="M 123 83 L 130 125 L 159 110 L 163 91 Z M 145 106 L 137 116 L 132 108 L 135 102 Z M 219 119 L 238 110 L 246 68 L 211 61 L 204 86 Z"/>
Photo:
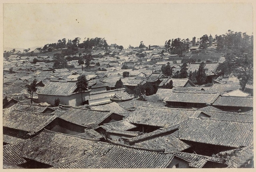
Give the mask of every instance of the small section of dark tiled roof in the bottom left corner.
<path id="1" fill-rule="evenodd" d="M 21 157 L 21 151 L 24 142 L 19 142 L 16 144 L 7 144 L 3 146 L 3 164 L 19 165 L 26 162 L 24 158 Z"/>

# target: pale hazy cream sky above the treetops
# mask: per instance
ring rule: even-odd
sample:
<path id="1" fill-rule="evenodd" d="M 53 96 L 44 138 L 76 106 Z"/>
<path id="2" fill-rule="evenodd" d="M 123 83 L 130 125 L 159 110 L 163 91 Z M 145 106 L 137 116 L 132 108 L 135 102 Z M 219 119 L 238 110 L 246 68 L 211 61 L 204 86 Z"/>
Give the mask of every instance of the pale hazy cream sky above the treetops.
<path id="1" fill-rule="evenodd" d="M 200 38 L 229 29 L 252 34 L 251 4 L 4 4 L 4 47 L 29 48 L 62 38 L 105 38 L 127 48 L 143 41 Z M 79 23 L 78 23 L 79 22 Z"/>

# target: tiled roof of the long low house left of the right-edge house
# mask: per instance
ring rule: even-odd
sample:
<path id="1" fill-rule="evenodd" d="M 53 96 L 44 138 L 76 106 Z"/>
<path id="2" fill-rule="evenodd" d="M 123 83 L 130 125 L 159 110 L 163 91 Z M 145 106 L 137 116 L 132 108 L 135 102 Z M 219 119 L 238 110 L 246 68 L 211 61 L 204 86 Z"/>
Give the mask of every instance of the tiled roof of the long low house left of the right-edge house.
<path id="1" fill-rule="evenodd" d="M 180 91 L 172 91 L 164 99 L 164 101 L 172 101 L 172 102 L 184 102 L 184 103 L 213 103 L 219 94 L 217 93 L 206 93 L 205 91 L 200 91 L 198 93 L 195 92 L 180 92 Z"/>

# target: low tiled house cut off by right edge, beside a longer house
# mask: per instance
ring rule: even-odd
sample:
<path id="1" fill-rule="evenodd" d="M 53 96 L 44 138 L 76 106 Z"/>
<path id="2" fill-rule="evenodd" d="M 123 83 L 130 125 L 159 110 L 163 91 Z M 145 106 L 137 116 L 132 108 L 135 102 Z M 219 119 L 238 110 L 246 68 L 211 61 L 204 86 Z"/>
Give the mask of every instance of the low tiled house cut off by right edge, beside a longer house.
<path id="1" fill-rule="evenodd" d="M 253 109 L 253 97 L 220 95 L 212 105 L 224 111 L 250 111 Z"/>

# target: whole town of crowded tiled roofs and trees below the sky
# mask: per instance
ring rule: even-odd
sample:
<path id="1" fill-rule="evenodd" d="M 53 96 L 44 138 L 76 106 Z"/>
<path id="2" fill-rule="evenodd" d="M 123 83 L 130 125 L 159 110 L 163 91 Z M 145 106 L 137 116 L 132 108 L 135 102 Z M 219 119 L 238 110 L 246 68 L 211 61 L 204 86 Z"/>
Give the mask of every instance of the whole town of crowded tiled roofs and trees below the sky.
<path id="1" fill-rule="evenodd" d="M 253 38 L 209 35 L 4 51 L 4 168 L 252 168 Z"/>

